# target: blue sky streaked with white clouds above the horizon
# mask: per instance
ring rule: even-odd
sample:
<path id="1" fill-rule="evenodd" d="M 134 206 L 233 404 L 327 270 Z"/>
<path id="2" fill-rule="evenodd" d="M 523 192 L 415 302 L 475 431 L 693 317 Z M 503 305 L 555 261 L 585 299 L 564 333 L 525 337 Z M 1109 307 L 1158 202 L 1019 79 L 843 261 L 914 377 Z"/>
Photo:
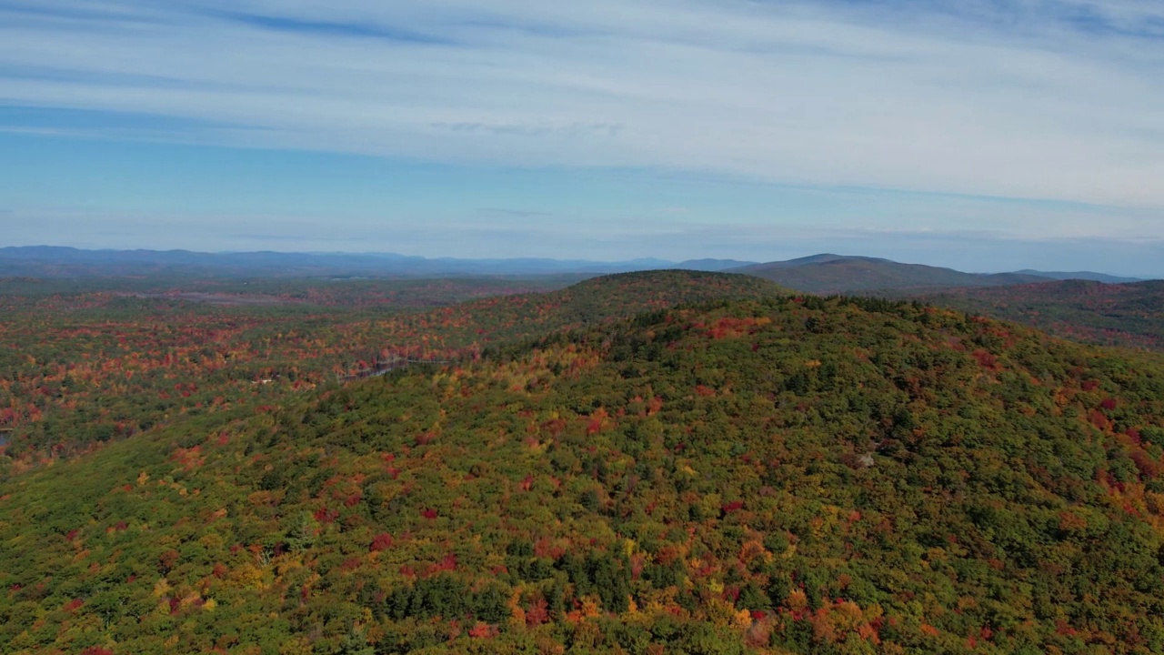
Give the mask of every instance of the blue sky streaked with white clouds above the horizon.
<path id="1" fill-rule="evenodd" d="M 0 246 L 1164 276 L 1164 0 L 0 0 Z"/>

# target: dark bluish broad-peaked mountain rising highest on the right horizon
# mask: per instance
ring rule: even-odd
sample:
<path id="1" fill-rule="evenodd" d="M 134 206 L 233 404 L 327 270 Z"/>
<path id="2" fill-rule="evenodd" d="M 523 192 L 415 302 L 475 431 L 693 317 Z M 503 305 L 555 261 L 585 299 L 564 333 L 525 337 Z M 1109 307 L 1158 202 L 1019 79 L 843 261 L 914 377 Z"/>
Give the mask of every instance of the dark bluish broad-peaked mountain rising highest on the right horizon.
<path id="1" fill-rule="evenodd" d="M 1045 277 L 1017 273 L 974 274 L 920 263 L 831 254 L 745 266 L 732 272 L 772 280 L 789 289 L 809 294 L 989 287 L 1046 281 Z"/>

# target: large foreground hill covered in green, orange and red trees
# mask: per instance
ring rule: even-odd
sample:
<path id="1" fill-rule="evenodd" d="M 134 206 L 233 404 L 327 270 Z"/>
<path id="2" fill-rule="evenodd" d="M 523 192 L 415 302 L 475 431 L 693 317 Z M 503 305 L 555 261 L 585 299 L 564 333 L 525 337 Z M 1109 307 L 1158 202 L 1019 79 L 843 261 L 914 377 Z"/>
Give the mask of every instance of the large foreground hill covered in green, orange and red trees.
<path id="1" fill-rule="evenodd" d="M 666 309 L 0 485 L 7 653 L 1161 653 L 1164 362 Z"/>

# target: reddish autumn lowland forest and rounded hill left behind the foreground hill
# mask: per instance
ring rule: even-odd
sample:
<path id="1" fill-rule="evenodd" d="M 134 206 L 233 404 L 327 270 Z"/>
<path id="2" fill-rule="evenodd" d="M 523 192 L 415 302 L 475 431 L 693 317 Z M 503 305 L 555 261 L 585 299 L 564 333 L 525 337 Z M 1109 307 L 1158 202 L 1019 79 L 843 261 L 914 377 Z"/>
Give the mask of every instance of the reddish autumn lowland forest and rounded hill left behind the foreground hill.
<path id="1" fill-rule="evenodd" d="M 175 420 L 247 415 L 393 354 L 471 359 L 494 341 L 639 310 L 783 293 L 690 272 L 535 293 L 562 283 L 9 280 L 0 286 L 0 476 Z"/>

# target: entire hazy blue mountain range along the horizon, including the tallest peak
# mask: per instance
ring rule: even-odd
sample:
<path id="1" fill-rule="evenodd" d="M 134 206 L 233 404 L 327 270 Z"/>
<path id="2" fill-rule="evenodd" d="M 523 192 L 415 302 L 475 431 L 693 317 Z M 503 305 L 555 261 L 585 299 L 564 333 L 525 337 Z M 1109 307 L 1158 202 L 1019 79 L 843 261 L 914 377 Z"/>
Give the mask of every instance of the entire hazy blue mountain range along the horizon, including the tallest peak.
<path id="1" fill-rule="evenodd" d="M 618 262 L 556 259 L 454 259 L 393 253 L 198 253 L 191 251 L 87 251 L 57 246 L 0 248 L 0 276 L 118 277 L 201 275 L 210 277 L 389 277 L 454 275 L 602 275 L 652 269 L 731 272 L 764 277 L 811 294 L 927 291 L 960 287 L 996 287 L 1050 280 L 1131 282 L 1102 273 L 963 273 L 951 268 L 901 263 L 887 259 L 817 254 L 758 263 L 730 259 L 681 262 L 636 259 Z"/>

